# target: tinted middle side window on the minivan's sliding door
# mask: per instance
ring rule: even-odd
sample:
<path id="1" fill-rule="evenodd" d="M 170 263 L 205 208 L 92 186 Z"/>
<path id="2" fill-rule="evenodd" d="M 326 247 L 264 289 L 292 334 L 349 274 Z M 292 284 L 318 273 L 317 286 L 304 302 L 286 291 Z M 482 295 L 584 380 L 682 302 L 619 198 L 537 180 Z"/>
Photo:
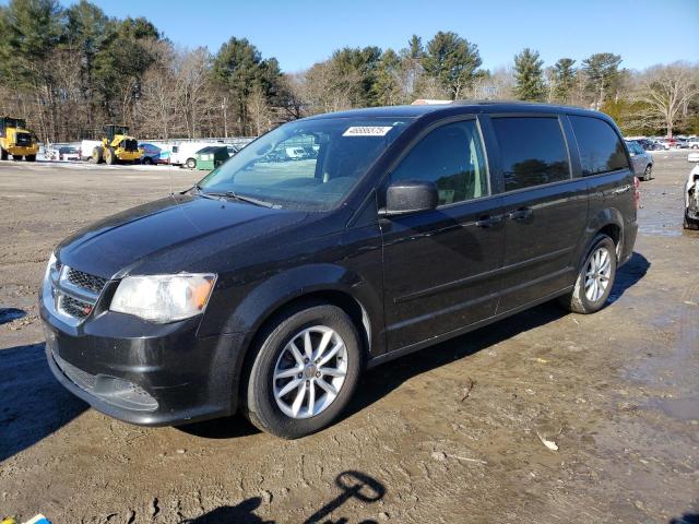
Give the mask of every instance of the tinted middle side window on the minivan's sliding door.
<path id="1" fill-rule="evenodd" d="M 505 190 L 570 178 L 568 151 L 558 118 L 494 118 Z"/>

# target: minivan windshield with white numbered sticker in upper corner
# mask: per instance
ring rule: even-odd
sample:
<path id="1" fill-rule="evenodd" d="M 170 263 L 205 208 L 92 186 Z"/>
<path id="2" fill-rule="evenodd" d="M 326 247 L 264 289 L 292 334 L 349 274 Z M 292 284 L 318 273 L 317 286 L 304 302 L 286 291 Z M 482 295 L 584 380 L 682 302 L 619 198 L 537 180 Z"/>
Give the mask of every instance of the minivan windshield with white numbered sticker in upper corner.
<path id="1" fill-rule="evenodd" d="M 334 207 L 412 119 L 298 120 L 261 136 L 211 171 L 200 188 L 277 207 Z"/>

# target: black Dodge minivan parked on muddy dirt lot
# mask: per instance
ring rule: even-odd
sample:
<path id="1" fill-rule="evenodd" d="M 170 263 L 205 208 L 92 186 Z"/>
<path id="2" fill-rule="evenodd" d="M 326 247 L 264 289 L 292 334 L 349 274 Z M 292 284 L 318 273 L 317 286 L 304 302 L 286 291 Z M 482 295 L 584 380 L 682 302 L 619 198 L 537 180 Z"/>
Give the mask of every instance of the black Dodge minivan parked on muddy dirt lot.
<path id="1" fill-rule="evenodd" d="M 312 154 L 292 158 L 287 151 Z M 193 188 L 64 240 L 40 294 L 54 374 L 96 409 L 245 413 L 297 438 L 363 369 L 558 299 L 605 303 L 638 181 L 600 112 L 454 103 L 260 136 Z"/>

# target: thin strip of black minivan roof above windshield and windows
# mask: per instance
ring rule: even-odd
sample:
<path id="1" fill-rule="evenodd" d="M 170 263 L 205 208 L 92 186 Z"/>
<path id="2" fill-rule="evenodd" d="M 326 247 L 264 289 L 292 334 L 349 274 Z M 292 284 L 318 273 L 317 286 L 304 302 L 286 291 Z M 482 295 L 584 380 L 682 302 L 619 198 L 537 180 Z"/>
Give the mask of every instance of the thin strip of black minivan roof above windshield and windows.
<path id="1" fill-rule="evenodd" d="M 511 100 L 454 100 L 451 104 L 415 105 L 415 106 L 386 106 L 369 107 L 366 109 L 350 109 L 346 111 L 327 112 L 309 117 L 310 119 L 324 118 L 418 118 L 427 114 L 443 114 L 445 116 L 461 115 L 465 112 L 570 112 L 579 115 L 602 116 L 599 111 L 583 109 L 573 106 L 560 106 L 555 104 L 541 104 Z"/>

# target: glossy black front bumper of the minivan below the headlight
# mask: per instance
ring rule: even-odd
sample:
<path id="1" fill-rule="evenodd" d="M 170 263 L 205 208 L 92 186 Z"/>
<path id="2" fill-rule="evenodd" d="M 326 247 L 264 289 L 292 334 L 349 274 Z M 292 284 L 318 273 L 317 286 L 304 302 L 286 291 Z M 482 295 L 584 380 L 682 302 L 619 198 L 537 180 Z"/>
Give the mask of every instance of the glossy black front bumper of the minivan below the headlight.
<path id="1" fill-rule="evenodd" d="M 200 318 L 152 324 L 109 311 L 71 326 L 39 309 L 54 376 L 98 412 L 141 426 L 235 413 L 240 336 L 198 337 Z"/>

